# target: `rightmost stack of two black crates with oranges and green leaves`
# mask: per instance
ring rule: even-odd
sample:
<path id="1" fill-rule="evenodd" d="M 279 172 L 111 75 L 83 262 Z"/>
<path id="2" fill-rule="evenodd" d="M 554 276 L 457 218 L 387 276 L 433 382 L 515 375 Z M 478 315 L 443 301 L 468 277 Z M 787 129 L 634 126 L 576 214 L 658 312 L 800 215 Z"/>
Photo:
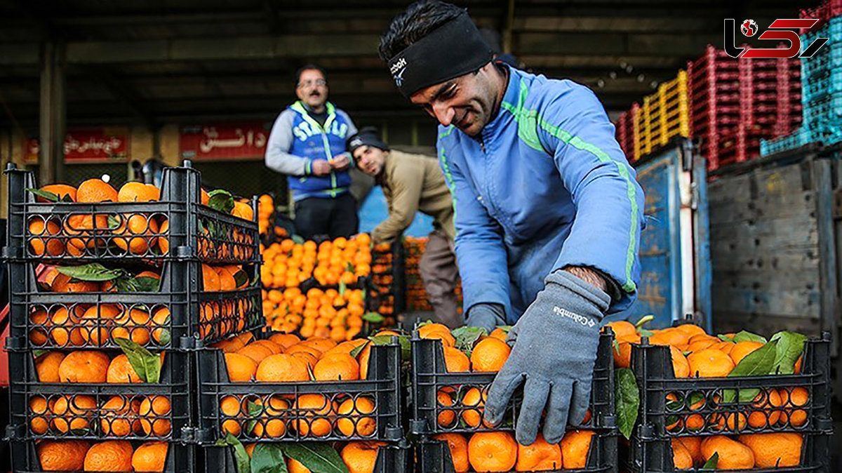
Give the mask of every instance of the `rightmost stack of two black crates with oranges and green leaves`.
<path id="1" fill-rule="evenodd" d="M 611 325 L 630 470 L 831 470 L 828 334 Z"/>

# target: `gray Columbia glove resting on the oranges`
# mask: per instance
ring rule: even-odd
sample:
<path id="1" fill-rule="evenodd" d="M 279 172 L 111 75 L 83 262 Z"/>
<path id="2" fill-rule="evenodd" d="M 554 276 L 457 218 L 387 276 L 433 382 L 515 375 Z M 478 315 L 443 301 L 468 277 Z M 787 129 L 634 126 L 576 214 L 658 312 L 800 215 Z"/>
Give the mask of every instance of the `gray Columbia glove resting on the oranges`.
<path id="1" fill-rule="evenodd" d="M 514 390 L 525 382 L 515 438 L 530 445 L 546 407 L 544 438 L 561 441 L 568 424 L 584 421 L 590 403 L 600 321 L 610 297 L 567 271 L 544 279 L 544 289 L 514 324 L 512 353 L 488 392 L 485 419 L 497 425 Z"/>

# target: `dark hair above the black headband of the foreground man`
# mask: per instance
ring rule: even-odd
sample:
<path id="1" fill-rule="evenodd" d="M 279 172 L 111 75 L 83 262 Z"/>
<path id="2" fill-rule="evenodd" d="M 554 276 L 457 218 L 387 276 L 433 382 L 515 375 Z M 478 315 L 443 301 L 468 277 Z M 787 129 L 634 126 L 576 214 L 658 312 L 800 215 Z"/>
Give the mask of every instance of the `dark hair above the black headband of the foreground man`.
<path id="1" fill-rule="evenodd" d="M 418 0 L 409 5 L 407 11 L 392 19 L 392 24 L 389 24 L 389 28 L 381 35 L 381 59 L 389 61 L 397 53 L 461 13 L 465 13 L 465 10 L 440 0 Z"/>

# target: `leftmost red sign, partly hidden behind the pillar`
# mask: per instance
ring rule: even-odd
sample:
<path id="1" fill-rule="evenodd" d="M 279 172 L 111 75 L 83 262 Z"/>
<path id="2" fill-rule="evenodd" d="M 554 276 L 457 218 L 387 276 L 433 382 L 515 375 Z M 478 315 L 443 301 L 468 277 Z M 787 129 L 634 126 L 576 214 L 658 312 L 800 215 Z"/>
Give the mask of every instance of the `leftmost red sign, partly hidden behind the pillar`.
<path id="1" fill-rule="evenodd" d="M 38 162 L 40 141 L 24 141 L 24 162 Z M 68 130 L 64 137 L 64 162 L 125 162 L 129 158 L 129 138 L 104 128 Z"/>

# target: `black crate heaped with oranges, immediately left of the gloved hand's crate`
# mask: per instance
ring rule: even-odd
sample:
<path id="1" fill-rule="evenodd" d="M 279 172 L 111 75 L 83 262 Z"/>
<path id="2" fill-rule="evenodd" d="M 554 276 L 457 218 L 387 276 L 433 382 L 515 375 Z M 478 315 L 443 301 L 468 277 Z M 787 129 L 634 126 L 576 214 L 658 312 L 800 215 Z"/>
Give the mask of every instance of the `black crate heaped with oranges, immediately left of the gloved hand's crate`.
<path id="1" fill-rule="evenodd" d="M 204 443 L 403 437 L 396 332 L 342 343 L 258 332 L 215 346 L 197 352 Z"/>

